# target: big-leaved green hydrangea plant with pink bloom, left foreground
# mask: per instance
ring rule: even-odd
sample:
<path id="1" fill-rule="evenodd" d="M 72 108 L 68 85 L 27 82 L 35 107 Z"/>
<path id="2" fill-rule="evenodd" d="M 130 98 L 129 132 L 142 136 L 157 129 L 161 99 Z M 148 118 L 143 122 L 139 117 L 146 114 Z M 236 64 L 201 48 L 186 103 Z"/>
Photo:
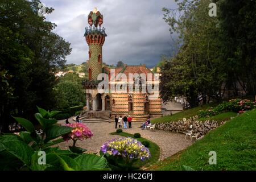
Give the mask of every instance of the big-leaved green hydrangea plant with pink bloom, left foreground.
<path id="1" fill-rule="evenodd" d="M 36 113 L 35 118 L 41 125 L 42 133 L 36 132 L 32 122 L 27 119 L 15 118 L 27 131 L 0 135 L 0 171 L 72 171 L 106 168 L 107 161 L 103 156 L 77 154 L 78 152 L 51 147 L 57 143 L 64 142 L 59 137 L 71 133 L 74 129 L 69 126 L 61 126 L 57 124 L 56 119 L 52 118 L 59 111 L 49 112 L 41 108 L 38 109 L 40 113 Z M 77 131 L 75 133 L 78 134 Z M 82 135 L 91 137 L 90 133 L 88 129 L 82 127 Z M 73 138 L 76 137 L 74 136 Z M 44 162 L 41 160 L 43 158 Z"/>

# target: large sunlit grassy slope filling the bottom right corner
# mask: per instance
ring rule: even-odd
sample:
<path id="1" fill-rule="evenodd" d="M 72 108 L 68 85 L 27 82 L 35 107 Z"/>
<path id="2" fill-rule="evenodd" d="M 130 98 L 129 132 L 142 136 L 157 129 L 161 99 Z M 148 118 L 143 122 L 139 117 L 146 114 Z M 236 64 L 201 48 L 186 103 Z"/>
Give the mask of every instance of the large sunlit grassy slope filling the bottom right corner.
<path id="1" fill-rule="evenodd" d="M 216 151 L 216 165 L 208 163 L 209 151 Z M 182 165 L 196 170 L 256 170 L 256 109 L 227 121 L 151 169 L 181 170 Z"/>

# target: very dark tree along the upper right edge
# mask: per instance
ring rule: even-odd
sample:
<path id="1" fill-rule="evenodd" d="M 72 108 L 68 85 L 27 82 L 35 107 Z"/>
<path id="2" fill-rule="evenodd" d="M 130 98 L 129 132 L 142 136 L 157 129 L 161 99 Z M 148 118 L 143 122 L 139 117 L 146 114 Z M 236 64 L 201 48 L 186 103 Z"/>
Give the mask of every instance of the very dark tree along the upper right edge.
<path id="1" fill-rule="evenodd" d="M 221 28 L 222 60 L 226 82 L 237 95 L 237 81 L 247 94 L 256 95 L 256 2 L 216 1 Z"/>

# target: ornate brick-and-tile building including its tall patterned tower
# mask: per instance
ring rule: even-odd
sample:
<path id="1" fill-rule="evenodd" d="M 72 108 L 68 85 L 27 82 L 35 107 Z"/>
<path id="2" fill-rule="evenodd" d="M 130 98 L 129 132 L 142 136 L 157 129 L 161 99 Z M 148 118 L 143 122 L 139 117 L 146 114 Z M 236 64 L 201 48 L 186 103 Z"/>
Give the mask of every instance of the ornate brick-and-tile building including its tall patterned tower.
<path id="1" fill-rule="evenodd" d="M 90 11 L 88 15 L 89 28 L 85 28 L 85 39 L 89 46 L 89 60 L 88 60 L 88 73 L 89 80 L 83 82 L 86 89 L 86 113 L 84 119 L 102 120 L 108 117 L 114 117 L 115 115 L 131 115 L 133 121 L 145 121 L 147 118 L 160 117 L 162 115 L 162 100 L 160 96 L 152 97 L 152 94 L 148 93 L 147 84 L 157 85 L 159 81 L 154 80 L 154 76 L 150 69 L 146 65 L 125 65 L 122 68 L 115 68 L 110 70 L 108 67 L 102 67 L 102 46 L 104 45 L 106 33 L 105 28 L 101 27 L 103 23 L 103 15 L 97 9 Z M 106 73 L 109 77 L 109 92 L 98 92 L 99 81 L 98 75 L 100 73 Z M 129 73 L 138 73 L 139 78 L 134 79 L 134 82 L 139 86 L 137 92 L 128 92 L 129 81 L 123 81 L 122 78 L 118 78 L 118 74 L 123 73 L 129 78 Z M 141 75 L 151 77 L 151 80 L 143 80 Z M 115 78 L 114 80 L 112 78 Z M 127 90 L 125 93 L 112 92 L 111 88 L 117 84 L 127 84 Z M 135 84 L 134 84 L 135 85 Z M 132 88 L 134 90 L 134 88 Z M 146 92 L 142 92 L 146 90 Z M 156 93 L 155 93 L 156 94 Z"/>

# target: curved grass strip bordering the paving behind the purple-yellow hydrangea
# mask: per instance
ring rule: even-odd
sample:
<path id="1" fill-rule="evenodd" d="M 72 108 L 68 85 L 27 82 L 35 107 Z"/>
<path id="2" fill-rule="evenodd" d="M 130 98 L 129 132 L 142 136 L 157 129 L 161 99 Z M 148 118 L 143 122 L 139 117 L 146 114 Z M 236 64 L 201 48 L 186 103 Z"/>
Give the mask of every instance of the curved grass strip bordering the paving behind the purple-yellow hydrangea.
<path id="1" fill-rule="evenodd" d="M 131 138 L 134 138 L 132 134 L 129 134 L 129 133 L 125 133 L 125 132 L 122 132 L 122 133 L 110 133 L 111 135 L 119 135 L 119 136 L 122 136 L 122 137 L 131 137 Z M 159 156 L 160 156 L 160 147 L 151 142 L 150 140 L 148 139 L 145 139 L 145 138 L 135 138 L 137 140 L 139 140 L 139 142 L 142 142 L 144 140 L 148 141 L 150 143 L 150 146 L 148 147 L 148 149 L 150 150 L 150 154 L 151 154 L 151 158 L 149 160 L 146 160 L 144 162 L 141 162 L 141 160 L 139 160 L 138 162 L 135 162 L 135 166 L 137 167 L 148 167 L 156 162 L 158 162 L 158 159 L 159 159 Z"/>

